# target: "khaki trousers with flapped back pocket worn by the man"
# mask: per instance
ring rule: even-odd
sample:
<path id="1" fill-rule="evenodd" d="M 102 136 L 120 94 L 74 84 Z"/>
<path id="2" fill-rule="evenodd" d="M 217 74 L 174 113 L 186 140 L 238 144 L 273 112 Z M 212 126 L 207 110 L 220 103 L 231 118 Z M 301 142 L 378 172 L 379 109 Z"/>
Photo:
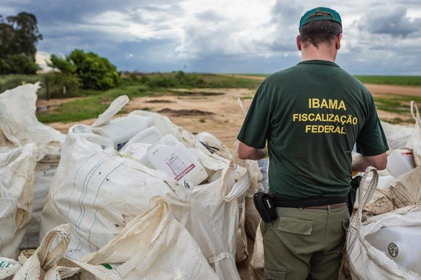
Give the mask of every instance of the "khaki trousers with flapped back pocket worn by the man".
<path id="1" fill-rule="evenodd" d="M 278 219 L 260 223 L 265 279 L 336 280 L 349 225 L 347 205 L 276 210 Z"/>

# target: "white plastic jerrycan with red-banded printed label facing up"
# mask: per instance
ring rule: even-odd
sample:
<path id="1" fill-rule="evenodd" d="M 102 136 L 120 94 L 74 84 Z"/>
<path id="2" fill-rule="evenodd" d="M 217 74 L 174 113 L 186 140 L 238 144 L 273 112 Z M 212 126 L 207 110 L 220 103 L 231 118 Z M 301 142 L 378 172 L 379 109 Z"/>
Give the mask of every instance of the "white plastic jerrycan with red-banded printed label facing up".
<path id="1" fill-rule="evenodd" d="M 171 134 L 162 137 L 160 144 L 150 146 L 147 154 L 156 169 L 167 172 L 184 186 L 198 185 L 207 178 L 203 166 Z"/>

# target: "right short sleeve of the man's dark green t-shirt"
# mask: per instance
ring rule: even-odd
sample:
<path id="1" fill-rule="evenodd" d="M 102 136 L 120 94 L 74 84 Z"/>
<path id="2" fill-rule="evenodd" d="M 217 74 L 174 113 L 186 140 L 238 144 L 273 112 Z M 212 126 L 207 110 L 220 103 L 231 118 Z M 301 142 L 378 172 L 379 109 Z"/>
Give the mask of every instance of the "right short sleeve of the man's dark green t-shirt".
<path id="1" fill-rule="evenodd" d="M 374 100 L 371 96 L 368 118 L 357 137 L 357 152 L 366 156 L 381 154 L 389 149 L 386 136 L 381 127 Z"/>

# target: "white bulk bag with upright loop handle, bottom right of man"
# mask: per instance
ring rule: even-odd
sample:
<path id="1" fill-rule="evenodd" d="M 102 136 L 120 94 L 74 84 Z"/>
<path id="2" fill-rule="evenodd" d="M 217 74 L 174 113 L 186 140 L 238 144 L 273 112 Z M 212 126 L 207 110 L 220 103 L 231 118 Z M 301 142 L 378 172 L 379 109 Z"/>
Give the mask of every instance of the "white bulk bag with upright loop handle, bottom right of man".
<path id="1" fill-rule="evenodd" d="M 358 209 L 352 217 L 346 236 L 346 260 L 352 278 L 371 279 L 421 279 L 416 273 L 406 270 L 383 252 L 373 247 L 365 236 L 386 226 L 421 225 L 421 204 L 399 208 L 395 211 L 377 215 L 361 222 L 362 209 L 371 199 L 377 185 L 377 170 L 368 167 L 361 180 L 364 184 L 367 175 L 373 172 L 365 193 L 358 189 Z"/>

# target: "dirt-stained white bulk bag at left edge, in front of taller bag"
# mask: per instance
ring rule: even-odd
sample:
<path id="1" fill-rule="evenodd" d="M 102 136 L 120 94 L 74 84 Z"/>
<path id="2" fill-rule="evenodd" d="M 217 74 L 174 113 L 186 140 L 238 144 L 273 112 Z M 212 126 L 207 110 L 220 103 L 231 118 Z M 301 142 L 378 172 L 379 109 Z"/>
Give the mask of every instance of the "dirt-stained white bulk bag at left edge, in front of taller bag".
<path id="1" fill-rule="evenodd" d="M 16 258 L 32 213 L 35 144 L 0 148 L 0 257 Z"/>

